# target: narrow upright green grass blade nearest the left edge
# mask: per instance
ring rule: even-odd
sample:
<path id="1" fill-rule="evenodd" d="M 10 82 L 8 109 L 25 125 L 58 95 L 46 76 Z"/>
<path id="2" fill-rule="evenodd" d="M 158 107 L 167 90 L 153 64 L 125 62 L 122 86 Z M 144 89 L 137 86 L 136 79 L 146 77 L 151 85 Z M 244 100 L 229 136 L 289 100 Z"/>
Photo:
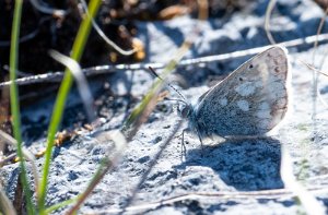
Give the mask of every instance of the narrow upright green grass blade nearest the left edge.
<path id="1" fill-rule="evenodd" d="M 11 32 L 11 46 L 10 46 L 10 80 L 12 84 L 10 85 L 10 103 L 11 103 L 11 114 L 13 118 L 13 133 L 17 141 L 17 156 L 20 157 L 21 167 L 21 179 L 23 184 L 23 190 L 25 194 L 26 207 L 28 214 L 34 214 L 34 205 L 32 203 L 31 189 L 27 181 L 27 172 L 25 167 L 25 159 L 23 157 L 23 146 L 22 146 L 22 132 L 21 132 L 21 114 L 19 104 L 19 88 L 13 82 L 16 79 L 17 61 L 19 61 L 19 36 L 22 16 L 22 0 L 15 0 L 14 16 L 12 23 Z"/>

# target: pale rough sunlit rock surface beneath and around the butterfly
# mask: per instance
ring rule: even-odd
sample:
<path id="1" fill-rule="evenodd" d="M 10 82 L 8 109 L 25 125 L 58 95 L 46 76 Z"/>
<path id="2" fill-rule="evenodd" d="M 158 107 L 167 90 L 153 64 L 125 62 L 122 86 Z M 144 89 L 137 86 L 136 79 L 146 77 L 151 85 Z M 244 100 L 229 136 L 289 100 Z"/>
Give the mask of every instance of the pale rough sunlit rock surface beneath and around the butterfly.
<path id="1" fill-rule="evenodd" d="M 185 58 L 227 53 L 268 45 L 263 29 L 267 1 L 232 14 L 201 23 L 201 36 Z M 273 11 L 271 29 L 278 43 L 315 35 L 323 16 L 312 1 L 279 1 Z M 189 16 L 166 22 L 139 23 L 140 39 L 147 45 L 150 62 L 167 62 L 184 39 L 192 33 L 196 20 Z M 326 26 L 324 27 L 324 32 Z M 319 68 L 328 46 L 323 44 L 315 55 L 314 65 Z M 316 196 L 328 205 L 324 190 L 328 182 L 328 111 L 321 100 L 328 101 L 328 79 L 318 77 L 319 96 L 314 96 L 313 72 L 301 61 L 312 62 L 312 45 L 289 48 L 292 64 L 290 115 L 279 130 L 268 138 L 250 140 L 206 140 L 203 148 L 195 133 L 185 135 L 186 156 L 181 157 L 181 129 L 174 135 L 150 175 L 137 192 L 133 205 L 181 196 L 188 193 L 219 193 L 194 195 L 167 202 L 161 206 L 132 210 L 142 214 L 296 214 L 303 211 L 291 193 L 283 189 L 280 176 L 281 150 L 285 146 L 293 159 L 294 175 L 309 189 L 321 188 Z M 196 100 L 213 83 L 236 69 L 245 58 L 210 62 L 203 67 L 179 68 L 175 80 L 184 83 L 181 93 Z M 325 65 L 323 67 L 325 68 Z M 83 191 L 102 157 L 112 148 L 109 141 L 96 140 L 97 133 L 119 129 L 128 112 L 138 104 L 153 83 L 147 71 L 124 71 L 106 79 L 92 81 L 96 100 L 102 100 L 98 116 L 106 121 L 92 132 L 83 132 L 68 144 L 57 147 L 50 167 L 47 203 L 52 205 L 71 199 Z M 110 93 L 104 93 L 104 83 Z M 102 85 L 103 84 L 103 85 Z M 129 95 L 128 93 L 131 93 Z M 109 95 L 110 94 L 110 95 Z M 113 96 L 114 95 L 114 96 Z M 176 95 L 172 93 L 172 97 Z M 72 93 L 63 128 L 74 122 L 70 117 L 83 116 L 83 108 Z M 131 99 L 132 98 L 132 99 Z M 54 97 L 40 100 L 23 111 L 25 135 L 40 135 L 46 128 Z M 161 101 L 147 123 L 138 131 L 121 156 L 115 170 L 108 172 L 87 199 L 81 213 L 109 213 L 127 203 L 133 189 L 149 169 L 155 154 L 173 132 L 179 117 L 173 101 Z M 35 108 L 37 107 L 37 111 Z M 32 115 L 33 112 L 33 115 Z M 83 117 L 82 117 L 83 118 Z M 23 120 L 24 122 L 24 120 Z M 184 124 L 185 127 L 186 124 Z M 31 134 L 33 133 L 33 134 Z M 32 138 L 33 139 L 33 138 Z M 40 148 L 44 139 L 28 143 Z M 327 151 L 327 152 L 326 152 Z M 44 158 L 37 159 L 40 168 Z M 5 191 L 13 198 L 17 165 L 0 169 Z M 270 193 L 270 190 L 272 191 Z M 261 194 L 268 191 L 267 194 Z M 247 192 L 247 193 L 245 193 Z M 272 194 L 273 193 L 273 194 Z M 63 211 L 57 211 L 60 214 Z"/>

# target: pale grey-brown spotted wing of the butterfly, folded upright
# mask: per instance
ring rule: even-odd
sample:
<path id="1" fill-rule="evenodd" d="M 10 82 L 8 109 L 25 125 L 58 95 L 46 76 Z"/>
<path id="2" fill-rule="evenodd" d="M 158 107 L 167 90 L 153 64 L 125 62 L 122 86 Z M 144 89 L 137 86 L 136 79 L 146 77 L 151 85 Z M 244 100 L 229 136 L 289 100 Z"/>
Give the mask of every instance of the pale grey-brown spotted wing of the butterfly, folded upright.
<path id="1" fill-rule="evenodd" d="M 202 96 L 194 120 L 206 135 L 259 135 L 288 109 L 286 51 L 272 47 L 246 61 Z"/>

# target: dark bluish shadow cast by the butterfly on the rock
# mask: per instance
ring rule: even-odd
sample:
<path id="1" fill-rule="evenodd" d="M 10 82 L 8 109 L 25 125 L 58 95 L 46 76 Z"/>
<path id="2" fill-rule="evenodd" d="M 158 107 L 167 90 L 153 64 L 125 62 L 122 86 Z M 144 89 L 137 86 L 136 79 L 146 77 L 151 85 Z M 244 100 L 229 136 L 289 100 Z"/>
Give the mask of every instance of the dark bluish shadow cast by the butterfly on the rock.
<path id="1" fill-rule="evenodd" d="M 184 165 L 210 167 L 227 186 L 239 191 L 255 191 L 283 188 L 280 160 L 280 141 L 261 138 L 225 140 L 189 150 Z"/>

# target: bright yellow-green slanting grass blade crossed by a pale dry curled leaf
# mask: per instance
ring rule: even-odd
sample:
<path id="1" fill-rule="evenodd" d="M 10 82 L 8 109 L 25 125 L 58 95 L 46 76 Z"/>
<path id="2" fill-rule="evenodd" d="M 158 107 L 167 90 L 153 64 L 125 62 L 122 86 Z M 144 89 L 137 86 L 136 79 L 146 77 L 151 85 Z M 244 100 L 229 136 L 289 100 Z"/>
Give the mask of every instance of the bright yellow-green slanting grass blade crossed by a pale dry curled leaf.
<path id="1" fill-rule="evenodd" d="M 91 19 L 94 17 L 95 14 L 98 11 L 98 8 L 101 5 L 101 0 L 92 0 L 89 4 L 89 12 L 90 16 L 85 15 L 84 20 L 82 21 L 77 38 L 73 44 L 71 58 L 75 61 L 80 61 L 82 57 L 82 52 L 84 50 L 84 46 L 86 44 L 86 39 L 90 34 L 91 29 Z M 69 94 L 69 91 L 73 83 L 73 75 L 71 74 L 69 69 L 66 69 L 63 80 L 61 82 L 61 85 L 59 87 L 58 96 L 55 103 L 55 108 L 52 111 L 50 126 L 48 129 L 48 135 L 47 135 L 47 148 L 46 148 L 46 157 L 45 157 L 45 164 L 43 168 L 43 178 L 40 180 L 39 190 L 38 190 L 38 208 L 39 214 L 46 214 L 45 212 L 45 201 L 46 201 L 46 192 L 47 192 L 47 182 L 48 182 L 48 175 L 49 175 L 49 167 L 50 167 L 50 159 L 51 159 L 51 153 L 54 148 L 54 141 L 56 132 L 58 131 L 59 124 L 61 122 L 65 104 L 67 100 L 67 96 Z"/>

